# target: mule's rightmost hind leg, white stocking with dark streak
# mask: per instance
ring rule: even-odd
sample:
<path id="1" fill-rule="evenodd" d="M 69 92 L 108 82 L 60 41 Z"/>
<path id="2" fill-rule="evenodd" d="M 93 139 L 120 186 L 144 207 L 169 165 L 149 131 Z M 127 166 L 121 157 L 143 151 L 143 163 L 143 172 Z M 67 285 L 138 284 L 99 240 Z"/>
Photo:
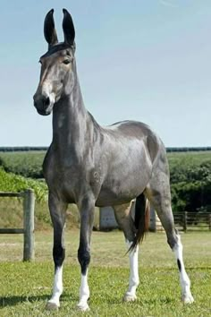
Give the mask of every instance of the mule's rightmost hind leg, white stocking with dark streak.
<path id="1" fill-rule="evenodd" d="M 190 304 L 194 301 L 190 292 L 190 278 L 186 273 L 183 262 L 181 238 L 174 227 L 169 176 L 168 173 L 164 172 L 164 169 L 163 171 L 158 169 L 154 173 L 145 193 L 165 228 L 167 242 L 175 255 L 180 273 L 181 300 L 184 304 Z"/>

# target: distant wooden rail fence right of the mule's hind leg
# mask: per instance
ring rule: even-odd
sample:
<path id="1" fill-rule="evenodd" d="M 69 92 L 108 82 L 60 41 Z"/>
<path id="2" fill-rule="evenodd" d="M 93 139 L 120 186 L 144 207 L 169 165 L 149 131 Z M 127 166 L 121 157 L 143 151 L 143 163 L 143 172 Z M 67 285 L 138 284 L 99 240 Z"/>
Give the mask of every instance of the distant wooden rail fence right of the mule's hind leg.
<path id="1" fill-rule="evenodd" d="M 182 211 L 175 212 L 173 218 L 175 227 L 181 231 L 211 231 L 211 213 Z"/>

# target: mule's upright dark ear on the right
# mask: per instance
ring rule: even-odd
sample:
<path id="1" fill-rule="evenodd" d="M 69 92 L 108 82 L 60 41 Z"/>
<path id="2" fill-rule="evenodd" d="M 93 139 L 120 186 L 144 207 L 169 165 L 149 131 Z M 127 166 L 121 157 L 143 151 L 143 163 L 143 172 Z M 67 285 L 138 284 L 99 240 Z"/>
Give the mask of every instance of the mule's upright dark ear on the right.
<path id="1" fill-rule="evenodd" d="M 63 35 L 64 42 L 72 46 L 75 39 L 75 28 L 72 16 L 66 9 L 63 9 Z"/>

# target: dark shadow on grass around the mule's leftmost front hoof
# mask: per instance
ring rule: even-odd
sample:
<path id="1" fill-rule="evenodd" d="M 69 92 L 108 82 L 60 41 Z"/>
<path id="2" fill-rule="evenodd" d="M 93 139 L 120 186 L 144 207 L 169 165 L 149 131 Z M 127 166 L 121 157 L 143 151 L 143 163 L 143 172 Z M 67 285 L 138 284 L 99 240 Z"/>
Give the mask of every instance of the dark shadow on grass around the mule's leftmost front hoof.
<path id="1" fill-rule="evenodd" d="M 49 295 L 39 295 L 39 296 L 5 296 L 0 297 L 0 307 L 6 307 L 6 306 L 15 306 L 17 304 L 21 303 L 34 303 L 38 301 L 44 301 L 47 302 L 47 300 L 50 298 Z M 78 297 L 73 296 L 72 294 L 63 294 L 61 296 L 61 302 L 65 301 L 76 301 Z"/>

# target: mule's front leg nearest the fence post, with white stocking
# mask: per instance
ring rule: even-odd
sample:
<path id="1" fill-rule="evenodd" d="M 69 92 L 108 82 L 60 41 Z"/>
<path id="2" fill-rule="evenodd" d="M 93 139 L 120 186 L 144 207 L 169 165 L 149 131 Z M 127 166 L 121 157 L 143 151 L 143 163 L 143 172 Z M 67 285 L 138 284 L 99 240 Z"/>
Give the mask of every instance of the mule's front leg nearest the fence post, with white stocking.
<path id="1" fill-rule="evenodd" d="M 48 205 L 54 227 L 53 258 L 55 262 L 55 278 L 53 294 L 46 304 L 46 309 L 52 310 L 60 307 L 59 299 L 63 293 L 63 260 L 65 257 L 63 234 L 67 204 L 59 200 L 54 194 L 49 193 Z"/>

